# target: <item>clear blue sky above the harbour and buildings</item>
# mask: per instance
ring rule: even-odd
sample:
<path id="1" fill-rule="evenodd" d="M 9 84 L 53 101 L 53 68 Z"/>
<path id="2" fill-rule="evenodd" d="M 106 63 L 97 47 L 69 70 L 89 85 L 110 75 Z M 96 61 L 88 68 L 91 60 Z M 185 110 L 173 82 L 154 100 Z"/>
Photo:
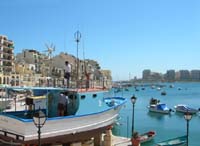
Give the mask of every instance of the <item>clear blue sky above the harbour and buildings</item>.
<path id="1" fill-rule="evenodd" d="M 200 0 L 1 0 L 0 34 L 22 49 L 97 60 L 114 80 L 200 69 Z M 84 51 L 83 51 L 84 50 Z"/>

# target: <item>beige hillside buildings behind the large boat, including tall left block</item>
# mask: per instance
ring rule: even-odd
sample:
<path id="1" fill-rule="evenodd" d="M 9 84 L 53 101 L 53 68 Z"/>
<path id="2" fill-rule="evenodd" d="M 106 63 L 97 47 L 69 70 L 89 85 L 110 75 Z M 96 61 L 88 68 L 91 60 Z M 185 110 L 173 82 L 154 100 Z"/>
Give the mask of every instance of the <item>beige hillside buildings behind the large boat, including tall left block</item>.
<path id="1" fill-rule="evenodd" d="M 11 86 L 64 87 L 65 61 L 72 66 L 70 87 L 85 86 L 86 73 L 90 87 L 110 88 L 111 71 L 101 69 L 95 60 L 81 60 L 67 52 L 54 55 L 53 44 L 44 44 L 44 50 L 21 49 L 14 54 L 14 41 L 0 35 L 0 84 Z M 57 52 L 58 54 L 58 52 Z"/>

